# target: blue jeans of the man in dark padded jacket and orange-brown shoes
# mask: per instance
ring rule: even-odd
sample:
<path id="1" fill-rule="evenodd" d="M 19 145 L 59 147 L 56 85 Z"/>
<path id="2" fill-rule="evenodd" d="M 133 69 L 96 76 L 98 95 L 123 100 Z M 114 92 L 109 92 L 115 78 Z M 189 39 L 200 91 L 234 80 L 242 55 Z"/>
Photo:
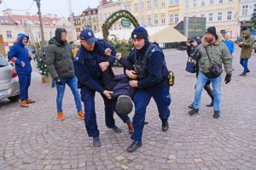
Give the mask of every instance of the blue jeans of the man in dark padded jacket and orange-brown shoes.
<path id="1" fill-rule="evenodd" d="M 78 79 L 77 77 L 71 77 L 71 78 L 61 78 L 62 85 L 56 84 L 57 88 L 57 111 L 62 112 L 62 99 L 64 96 L 66 84 L 69 86 L 73 93 L 73 97 L 76 103 L 77 111 L 83 111 L 82 105 L 81 105 L 81 99 L 79 94 L 79 88 L 78 88 Z"/>

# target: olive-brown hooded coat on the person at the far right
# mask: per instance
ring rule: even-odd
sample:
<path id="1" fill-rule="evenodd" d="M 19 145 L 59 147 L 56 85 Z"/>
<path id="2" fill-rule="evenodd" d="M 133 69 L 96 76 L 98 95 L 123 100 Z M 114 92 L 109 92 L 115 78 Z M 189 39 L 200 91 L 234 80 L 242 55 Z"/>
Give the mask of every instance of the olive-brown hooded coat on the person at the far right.
<path id="1" fill-rule="evenodd" d="M 251 37 L 250 31 L 244 31 L 246 37 L 241 44 L 241 59 L 250 59 L 253 51 L 253 37 Z"/>

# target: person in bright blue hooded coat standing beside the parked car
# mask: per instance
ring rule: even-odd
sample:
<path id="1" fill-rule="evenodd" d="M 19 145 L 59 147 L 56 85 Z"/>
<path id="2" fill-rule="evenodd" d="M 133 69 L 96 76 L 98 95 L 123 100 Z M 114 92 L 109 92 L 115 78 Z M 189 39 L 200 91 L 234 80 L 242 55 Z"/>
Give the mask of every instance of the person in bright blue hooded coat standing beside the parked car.
<path id="1" fill-rule="evenodd" d="M 33 99 L 28 98 L 28 88 L 31 84 L 32 56 L 28 54 L 26 43 L 29 37 L 25 34 L 19 34 L 15 45 L 9 50 L 8 59 L 15 63 L 15 69 L 19 77 L 20 84 L 20 106 L 28 107 L 28 104 L 35 103 Z"/>

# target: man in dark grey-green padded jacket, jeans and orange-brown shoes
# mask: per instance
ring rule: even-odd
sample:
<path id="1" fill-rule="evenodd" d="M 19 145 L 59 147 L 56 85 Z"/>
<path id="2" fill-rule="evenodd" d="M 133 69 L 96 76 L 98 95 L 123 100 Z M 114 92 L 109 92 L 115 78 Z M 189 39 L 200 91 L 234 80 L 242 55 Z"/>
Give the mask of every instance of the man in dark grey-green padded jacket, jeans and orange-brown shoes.
<path id="1" fill-rule="evenodd" d="M 55 30 L 55 37 L 49 40 L 46 48 L 46 64 L 51 77 L 54 78 L 57 89 L 56 105 L 57 117 L 65 120 L 62 111 L 62 99 L 66 84 L 72 90 L 78 117 L 84 119 L 84 112 L 78 89 L 78 80 L 74 75 L 72 48 L 67 43 L 67 31 L 64 28 Z"/>

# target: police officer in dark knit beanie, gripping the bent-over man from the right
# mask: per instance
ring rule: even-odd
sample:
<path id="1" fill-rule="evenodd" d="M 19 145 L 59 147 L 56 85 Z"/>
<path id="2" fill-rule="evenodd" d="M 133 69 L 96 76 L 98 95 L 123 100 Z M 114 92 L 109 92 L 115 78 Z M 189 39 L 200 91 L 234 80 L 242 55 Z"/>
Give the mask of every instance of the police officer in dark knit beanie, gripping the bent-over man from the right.
<path id="1" fill-rule="evenodd" d="M 135 48 L 127 59 L 135 66 L 136 71 L 125 70 L 125 74 L 132 80 L 131 87 L 137 88 L 134 95 L 135 115 L 133 117 L 134 133 L 131 135 L 132 144 L 128 152 L 142 146 L 143 127 L 148 103 L 153 97 L 162 122 L 162 131 L 169 128 L 169 105 L 171 104 L 170 87 L 167 79 L 169 71 L 166 68 L 165 55 L 158 45 L 148 41 L 148 31 L 143 27 L 136 27 L 131 32 Z"/>

